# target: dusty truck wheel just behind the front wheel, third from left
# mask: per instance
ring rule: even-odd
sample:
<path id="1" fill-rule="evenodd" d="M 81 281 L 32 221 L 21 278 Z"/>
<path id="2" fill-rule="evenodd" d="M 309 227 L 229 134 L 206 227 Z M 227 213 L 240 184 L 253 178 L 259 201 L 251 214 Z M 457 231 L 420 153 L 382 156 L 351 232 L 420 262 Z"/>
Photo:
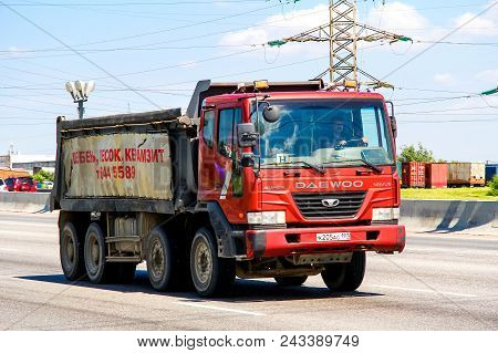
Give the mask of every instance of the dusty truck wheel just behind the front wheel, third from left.
<path id="1" fill-rule="evenodd" d="M 156 291 L 178 288 L 179 271 L 178 251 L 175 243 L 162 228 L 154 228 L 147 241 L 147 273 L 151 285 Z"/>

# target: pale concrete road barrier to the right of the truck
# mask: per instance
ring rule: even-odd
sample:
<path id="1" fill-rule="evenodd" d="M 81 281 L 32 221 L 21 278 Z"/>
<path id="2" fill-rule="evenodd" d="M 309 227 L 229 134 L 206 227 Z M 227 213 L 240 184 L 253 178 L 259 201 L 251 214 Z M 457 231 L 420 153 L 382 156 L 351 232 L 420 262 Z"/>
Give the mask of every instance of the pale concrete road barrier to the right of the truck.
<path id="1" fill-rule="evenodd" d="M 409 231 L 498 235 L 498 201 L 404 199 L 401 218 Z"/>

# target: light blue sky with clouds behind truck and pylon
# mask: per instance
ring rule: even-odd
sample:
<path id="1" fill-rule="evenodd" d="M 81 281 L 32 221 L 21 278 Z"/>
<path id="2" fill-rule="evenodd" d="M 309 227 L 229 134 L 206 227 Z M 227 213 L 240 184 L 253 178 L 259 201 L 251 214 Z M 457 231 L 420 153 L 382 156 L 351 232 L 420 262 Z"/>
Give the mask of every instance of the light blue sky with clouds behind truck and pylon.
<path id="1" fill-rule="evenodd" d="M 76 113 L 69 80 L 95 80 L 86 112 L 98 116 L 186 107 L 203 79 L 298 81 L 328 65 L 326 44 L 261 45 L 326 21 L 326 1 L 3 2 L 134 91 L 0 4 L 0 154 L 54 153 L 55 117 Z M 360 22 L 416 41 L 360 45 L 360 66 L 396 87 L 378 92 L 396 105 L 398 146 L 498 160 L 498 95 L 476 95 L 498 84 L 498 4 L 475 18 L 496 2 L 359 0 Z"/>

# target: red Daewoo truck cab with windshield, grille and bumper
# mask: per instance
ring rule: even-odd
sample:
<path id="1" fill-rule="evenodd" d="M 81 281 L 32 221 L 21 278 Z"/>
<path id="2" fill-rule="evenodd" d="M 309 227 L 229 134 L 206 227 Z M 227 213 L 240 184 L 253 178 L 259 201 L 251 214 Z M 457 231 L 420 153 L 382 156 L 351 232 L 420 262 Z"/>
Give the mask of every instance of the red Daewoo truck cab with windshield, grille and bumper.
<path id="1" fill-rule="evenodd" d="M 294 283 L 359 262 L 362 279 L 365 251 L 403 251 L 396 126 L 383 96 L 257 84 L 200 110 L 198 200 L 225 225 L 219 253 L 238 259 L 237 276 Z M 361 283 L 338 287 L 334 276 L 324 280 L 335 289 Z"/>

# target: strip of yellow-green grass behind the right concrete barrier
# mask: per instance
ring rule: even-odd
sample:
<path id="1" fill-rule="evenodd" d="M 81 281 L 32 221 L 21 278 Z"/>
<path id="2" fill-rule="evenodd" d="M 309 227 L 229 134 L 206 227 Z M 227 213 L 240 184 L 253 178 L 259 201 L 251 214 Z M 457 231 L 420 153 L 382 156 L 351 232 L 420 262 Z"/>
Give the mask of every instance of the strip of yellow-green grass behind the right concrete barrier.
<path id="1" fill-rule="evenodd" d="M 489 187 L 456 187 L 444 189 L 402 189 L 402 198 L 406 199 L 453 199 L 453 200 L 495 200 L 498 196 L 489 196 Z"/>

